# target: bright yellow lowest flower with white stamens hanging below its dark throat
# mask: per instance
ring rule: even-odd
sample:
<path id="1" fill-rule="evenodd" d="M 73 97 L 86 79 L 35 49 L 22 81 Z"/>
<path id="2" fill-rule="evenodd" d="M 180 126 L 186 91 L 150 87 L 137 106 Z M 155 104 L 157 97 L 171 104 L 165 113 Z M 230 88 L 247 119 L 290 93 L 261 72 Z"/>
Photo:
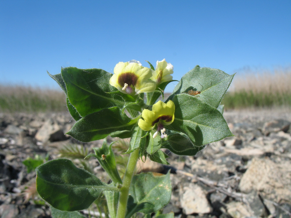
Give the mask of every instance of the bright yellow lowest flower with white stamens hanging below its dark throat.
<path id="1" fill-rule="evenodd" d="M 161 131 L 161 137 L 167 137 L 164 126 L 170 125 L 174 121 L 175 104 L 173 101 L 164 103 L 158 101 L 152 106 L 152 110 L 144 109 L 139 119 L 139 127 L 144 131 L 150 131 L 155 128 L 157 124 L 157 132 L 153 137 L 156 137 Z"/>

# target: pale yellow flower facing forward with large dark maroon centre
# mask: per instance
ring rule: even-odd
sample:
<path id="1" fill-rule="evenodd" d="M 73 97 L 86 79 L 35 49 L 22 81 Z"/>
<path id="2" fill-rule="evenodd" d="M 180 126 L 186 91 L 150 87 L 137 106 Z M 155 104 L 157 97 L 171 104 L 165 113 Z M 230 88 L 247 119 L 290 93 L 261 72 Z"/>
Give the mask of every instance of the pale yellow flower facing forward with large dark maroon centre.
<path id="1" fill-rule="evenodd" d="M 156 83 L 149 80 L 151 76 L 152 70 L 141 66 L 139 61 L 119 62 L 114 67 L 114 74 L 109 84 L 125 94 L 153 92 L 156 89 Z"/>

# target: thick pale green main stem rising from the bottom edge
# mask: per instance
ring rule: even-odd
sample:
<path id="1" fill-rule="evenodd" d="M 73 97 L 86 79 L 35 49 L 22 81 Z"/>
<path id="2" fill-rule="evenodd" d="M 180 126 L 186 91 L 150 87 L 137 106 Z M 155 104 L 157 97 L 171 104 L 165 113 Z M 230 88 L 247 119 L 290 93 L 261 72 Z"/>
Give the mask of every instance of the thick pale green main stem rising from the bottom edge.
<path id="1" fill-rule="evenodd" d="M 135 169 L 138 158 L 139 158 L 139 149 L 136 149 L 130 154 L 130 157 L 127 163 L 127 168 L 124 174 L 122 188 L 120 188 L 120 195 L 119 195 L 116 218 L 124 218 L 126 215 L 129 186 L 132 181 L 132 176 L 134 174 L 134 169 Z"/>

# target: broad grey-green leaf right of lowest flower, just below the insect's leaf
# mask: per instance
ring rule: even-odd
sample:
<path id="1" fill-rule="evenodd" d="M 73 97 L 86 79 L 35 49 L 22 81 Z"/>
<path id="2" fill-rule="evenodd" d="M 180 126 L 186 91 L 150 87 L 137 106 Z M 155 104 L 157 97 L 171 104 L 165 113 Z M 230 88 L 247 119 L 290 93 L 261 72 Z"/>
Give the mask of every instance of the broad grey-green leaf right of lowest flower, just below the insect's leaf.
<path id="1" fill-rule="evenodd" d="M 173 98 L 175 119 L 168 128 L 185 133 L 195 146 L 234 136 L 221 112 L 198 98 L 178 94 Z"/>

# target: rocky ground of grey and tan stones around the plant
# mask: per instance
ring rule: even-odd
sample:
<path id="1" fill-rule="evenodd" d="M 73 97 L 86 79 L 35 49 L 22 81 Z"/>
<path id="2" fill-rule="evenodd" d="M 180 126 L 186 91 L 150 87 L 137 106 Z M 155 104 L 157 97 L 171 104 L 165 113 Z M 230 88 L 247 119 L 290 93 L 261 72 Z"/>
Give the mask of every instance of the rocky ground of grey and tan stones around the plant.
<path id="1" fill-rule="evenodd" d="M 193 157 L 168 153 L 170 166 L 139 163 L 143 171 L 171 169 L 173 192 L 164 213 L 173 211 L 181 218 L 291 217 L 291 113 L 233 111 L 224 116 L 236 137 L 211 143 Z M 100 146 L 100 141 L 80 144 L 64 135 L 73 124 L 68 113 L 0 113 L 2 218 L 51 217 L 49 206 L 38 201 L 34 171 L 27 173 L 22 161 L 47 154 L 58 158 L 68 145 L 89 151 Z M 104 174 L 97 161 L 89 165 Z M 88 216 L 89 211 L 82 213 Z"/>

